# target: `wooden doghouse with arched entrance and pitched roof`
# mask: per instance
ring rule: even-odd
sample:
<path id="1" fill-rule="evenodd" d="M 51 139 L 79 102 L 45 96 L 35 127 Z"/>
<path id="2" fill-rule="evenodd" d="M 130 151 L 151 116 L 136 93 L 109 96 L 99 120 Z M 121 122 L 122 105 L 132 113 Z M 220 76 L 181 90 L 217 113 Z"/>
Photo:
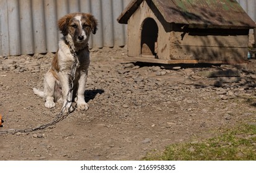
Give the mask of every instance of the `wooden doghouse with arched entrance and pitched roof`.
<path id="1" fill-rule="evenodd" d="M 132 0 L 117 20 L 130 60 L 163 64 L 244 62 L 255 27 L 235 0 Z"/>

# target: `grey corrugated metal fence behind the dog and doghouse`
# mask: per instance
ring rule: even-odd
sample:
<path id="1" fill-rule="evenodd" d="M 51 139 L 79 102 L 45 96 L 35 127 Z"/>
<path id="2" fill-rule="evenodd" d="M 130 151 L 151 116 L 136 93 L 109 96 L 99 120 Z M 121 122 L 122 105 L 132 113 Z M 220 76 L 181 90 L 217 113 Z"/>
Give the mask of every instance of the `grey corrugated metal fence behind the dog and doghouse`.
<path id="1" fill-rule="evenodd" d="M 125 46 L 126 26 L 117 17 L 130 0 L 0 0 L 0 56 L 56 52 L 57 20 L 69 12 L 90 12 L 99 30 L 90 48 Z M 256 21 L 256 1 L 238 0 Z M 58 35 L 58 36 L 56 36 Z"/>

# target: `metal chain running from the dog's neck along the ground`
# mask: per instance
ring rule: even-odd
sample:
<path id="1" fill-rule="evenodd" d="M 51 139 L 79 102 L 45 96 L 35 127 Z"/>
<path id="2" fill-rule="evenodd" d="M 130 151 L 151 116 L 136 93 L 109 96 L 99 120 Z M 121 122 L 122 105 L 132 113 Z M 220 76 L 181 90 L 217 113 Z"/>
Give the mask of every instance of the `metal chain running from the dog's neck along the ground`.
<path id="1" fill-rule="evenodd" d="M 8 134 L 8 133 L 15 134 L 15 133 L 18 133 L 18 132 L 27 133 L 27 132 L 33 132 L 33 131 L 36 131 L 36 130 L 43 130 L 43 129 L 46 129 L 46 127 L 57 124 L 58 122 L 60 122 L 61 120 L 63 120 L 64 118 L 66 118 L 68 116 L 68 114 L 70 112 L 68 111 L 65 114 L 65 111 L 67 109 L 68 103 L 72 102 L 72 90 L 73 90 L 73 86 L 74 86 L 74 79 L 76 77 L 77 63 L 79 62 L 78 58 L 77 58 L 77 55 L 76 55 L 76 52 L 75 51 L 71 51 L 71 52 L 74 56 L 74 63 L 71 65 L 71 76 L 70 76 L 71 82 L 69 83 L 69 90 L 68 90 L 68 94 L 67 94 L 67 98 L 66 98 L 66 104 L 63 106 L 63 108 L 61 109 L 58 116 L 56 116 L 55 119 L 52 120 L 51 122 L 48 122 L 47 124 L 39 125 L 35 128 L 1 130 L 0 135 Z M 69 95 L 71 95 L 71 100 L 68 99 Z"/>

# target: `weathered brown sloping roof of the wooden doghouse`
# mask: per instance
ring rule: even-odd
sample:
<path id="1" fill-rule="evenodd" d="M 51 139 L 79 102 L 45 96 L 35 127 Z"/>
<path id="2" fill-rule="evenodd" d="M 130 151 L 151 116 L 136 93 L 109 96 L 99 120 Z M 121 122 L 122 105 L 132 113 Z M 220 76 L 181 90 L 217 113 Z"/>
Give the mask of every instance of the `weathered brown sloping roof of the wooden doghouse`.
<path id="1" fill-rule="evenodd" d="M 126 23 L 145 0 L 132 0 L 118 17 Z M 235 0 L 146 0 L 166 22 L 191 28 L 254 28 L 255 22 Z"/>

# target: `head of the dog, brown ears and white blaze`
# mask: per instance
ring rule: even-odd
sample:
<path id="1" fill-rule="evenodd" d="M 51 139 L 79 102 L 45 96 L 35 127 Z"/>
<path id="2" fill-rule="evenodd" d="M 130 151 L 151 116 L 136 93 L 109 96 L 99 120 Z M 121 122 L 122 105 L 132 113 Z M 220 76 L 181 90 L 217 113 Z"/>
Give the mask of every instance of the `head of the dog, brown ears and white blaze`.
<path id="1" fill-rule="evenodd" d="M 71 37 L 74 43 L 86 43 L 90 32 L 96 33 L 97 24 L 95 17 L 87 13 L 67 14 L 58 20 L 61 33 Z"/>

